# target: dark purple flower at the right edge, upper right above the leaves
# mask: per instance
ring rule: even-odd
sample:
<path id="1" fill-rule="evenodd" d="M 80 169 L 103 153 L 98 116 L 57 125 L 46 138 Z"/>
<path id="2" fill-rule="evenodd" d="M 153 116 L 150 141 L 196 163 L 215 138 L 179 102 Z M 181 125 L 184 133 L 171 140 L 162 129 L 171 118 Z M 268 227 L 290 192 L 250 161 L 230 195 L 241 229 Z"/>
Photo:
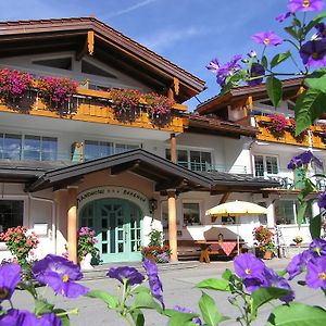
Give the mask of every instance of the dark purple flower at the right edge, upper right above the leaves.
<path id="1" fill-rule="evenodd" d="M 308 66 L 326 66 L 326 39 L 322 38 L 305 42 L 299 53 L 303 64 Z"/>

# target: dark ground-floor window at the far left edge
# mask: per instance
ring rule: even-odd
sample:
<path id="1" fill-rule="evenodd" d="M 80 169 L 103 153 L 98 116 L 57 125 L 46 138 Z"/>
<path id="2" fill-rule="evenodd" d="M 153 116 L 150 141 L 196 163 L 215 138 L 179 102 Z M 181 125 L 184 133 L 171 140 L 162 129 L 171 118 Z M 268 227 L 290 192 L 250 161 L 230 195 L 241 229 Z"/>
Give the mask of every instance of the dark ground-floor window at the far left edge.
<path id="1" fill-rule="evenodd" d="M 0 231 L 23 225 L 23 200 L 0 200 Z"/>

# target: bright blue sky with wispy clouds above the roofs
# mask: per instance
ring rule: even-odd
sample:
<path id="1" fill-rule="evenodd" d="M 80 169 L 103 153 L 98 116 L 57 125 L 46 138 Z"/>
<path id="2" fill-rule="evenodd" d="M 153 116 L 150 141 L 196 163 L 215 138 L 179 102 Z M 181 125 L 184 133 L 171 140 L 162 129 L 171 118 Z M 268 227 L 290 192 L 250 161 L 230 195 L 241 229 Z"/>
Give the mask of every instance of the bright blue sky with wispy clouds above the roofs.
<path id="1" fill-rule="evenodd" d="M 201 101 L 220 90 L 205 65 L 251 49 L 256 32 L 281 34 L 275 16 L 287 0 L 0 0 L 0 20 L 33 20 L 95 15 L 206 82 Z M 284 35 L 284 34 L 283 34 Z M 286 50 L 286 48 L 284 48 Z M 267 53 L 268 54 L 268 53 Z M 191 100 L 192 110 L 198 102 Z"/>

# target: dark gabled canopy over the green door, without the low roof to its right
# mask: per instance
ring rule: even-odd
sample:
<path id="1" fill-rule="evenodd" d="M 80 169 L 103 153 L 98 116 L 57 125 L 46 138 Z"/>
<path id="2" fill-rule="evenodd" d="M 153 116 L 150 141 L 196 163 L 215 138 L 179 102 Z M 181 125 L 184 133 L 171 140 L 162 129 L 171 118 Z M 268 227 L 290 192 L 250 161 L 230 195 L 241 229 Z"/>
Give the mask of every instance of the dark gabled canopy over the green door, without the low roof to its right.
<path id="1" fill-rule="evenodd" d="M 212 180 L 171 161 L 156 156 L 142 149 L 84 162 L 62 168 L 46 172 L 32 185 L 27 191 L 38 191 L 46 188 L 61 189 L 80 180 L 84 175 L 108 171 L 111 175 L 131 172 L 155 183 L 155 191 L 176 189 L 189 190 L 210 189 Z"/>

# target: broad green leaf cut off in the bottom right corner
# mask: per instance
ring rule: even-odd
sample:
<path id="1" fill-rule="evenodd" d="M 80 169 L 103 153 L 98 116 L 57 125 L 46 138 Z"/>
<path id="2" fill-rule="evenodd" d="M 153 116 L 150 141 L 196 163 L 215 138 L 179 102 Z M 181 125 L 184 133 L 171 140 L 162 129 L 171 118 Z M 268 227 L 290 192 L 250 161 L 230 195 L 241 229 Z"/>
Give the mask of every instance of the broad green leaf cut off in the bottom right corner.
<path id="1" fill-rule="evenodd" d="M 269 326 L 325 326 L 326 311 L 319 306 L 291 302 L 276 306 L 267 322 Z"/>

